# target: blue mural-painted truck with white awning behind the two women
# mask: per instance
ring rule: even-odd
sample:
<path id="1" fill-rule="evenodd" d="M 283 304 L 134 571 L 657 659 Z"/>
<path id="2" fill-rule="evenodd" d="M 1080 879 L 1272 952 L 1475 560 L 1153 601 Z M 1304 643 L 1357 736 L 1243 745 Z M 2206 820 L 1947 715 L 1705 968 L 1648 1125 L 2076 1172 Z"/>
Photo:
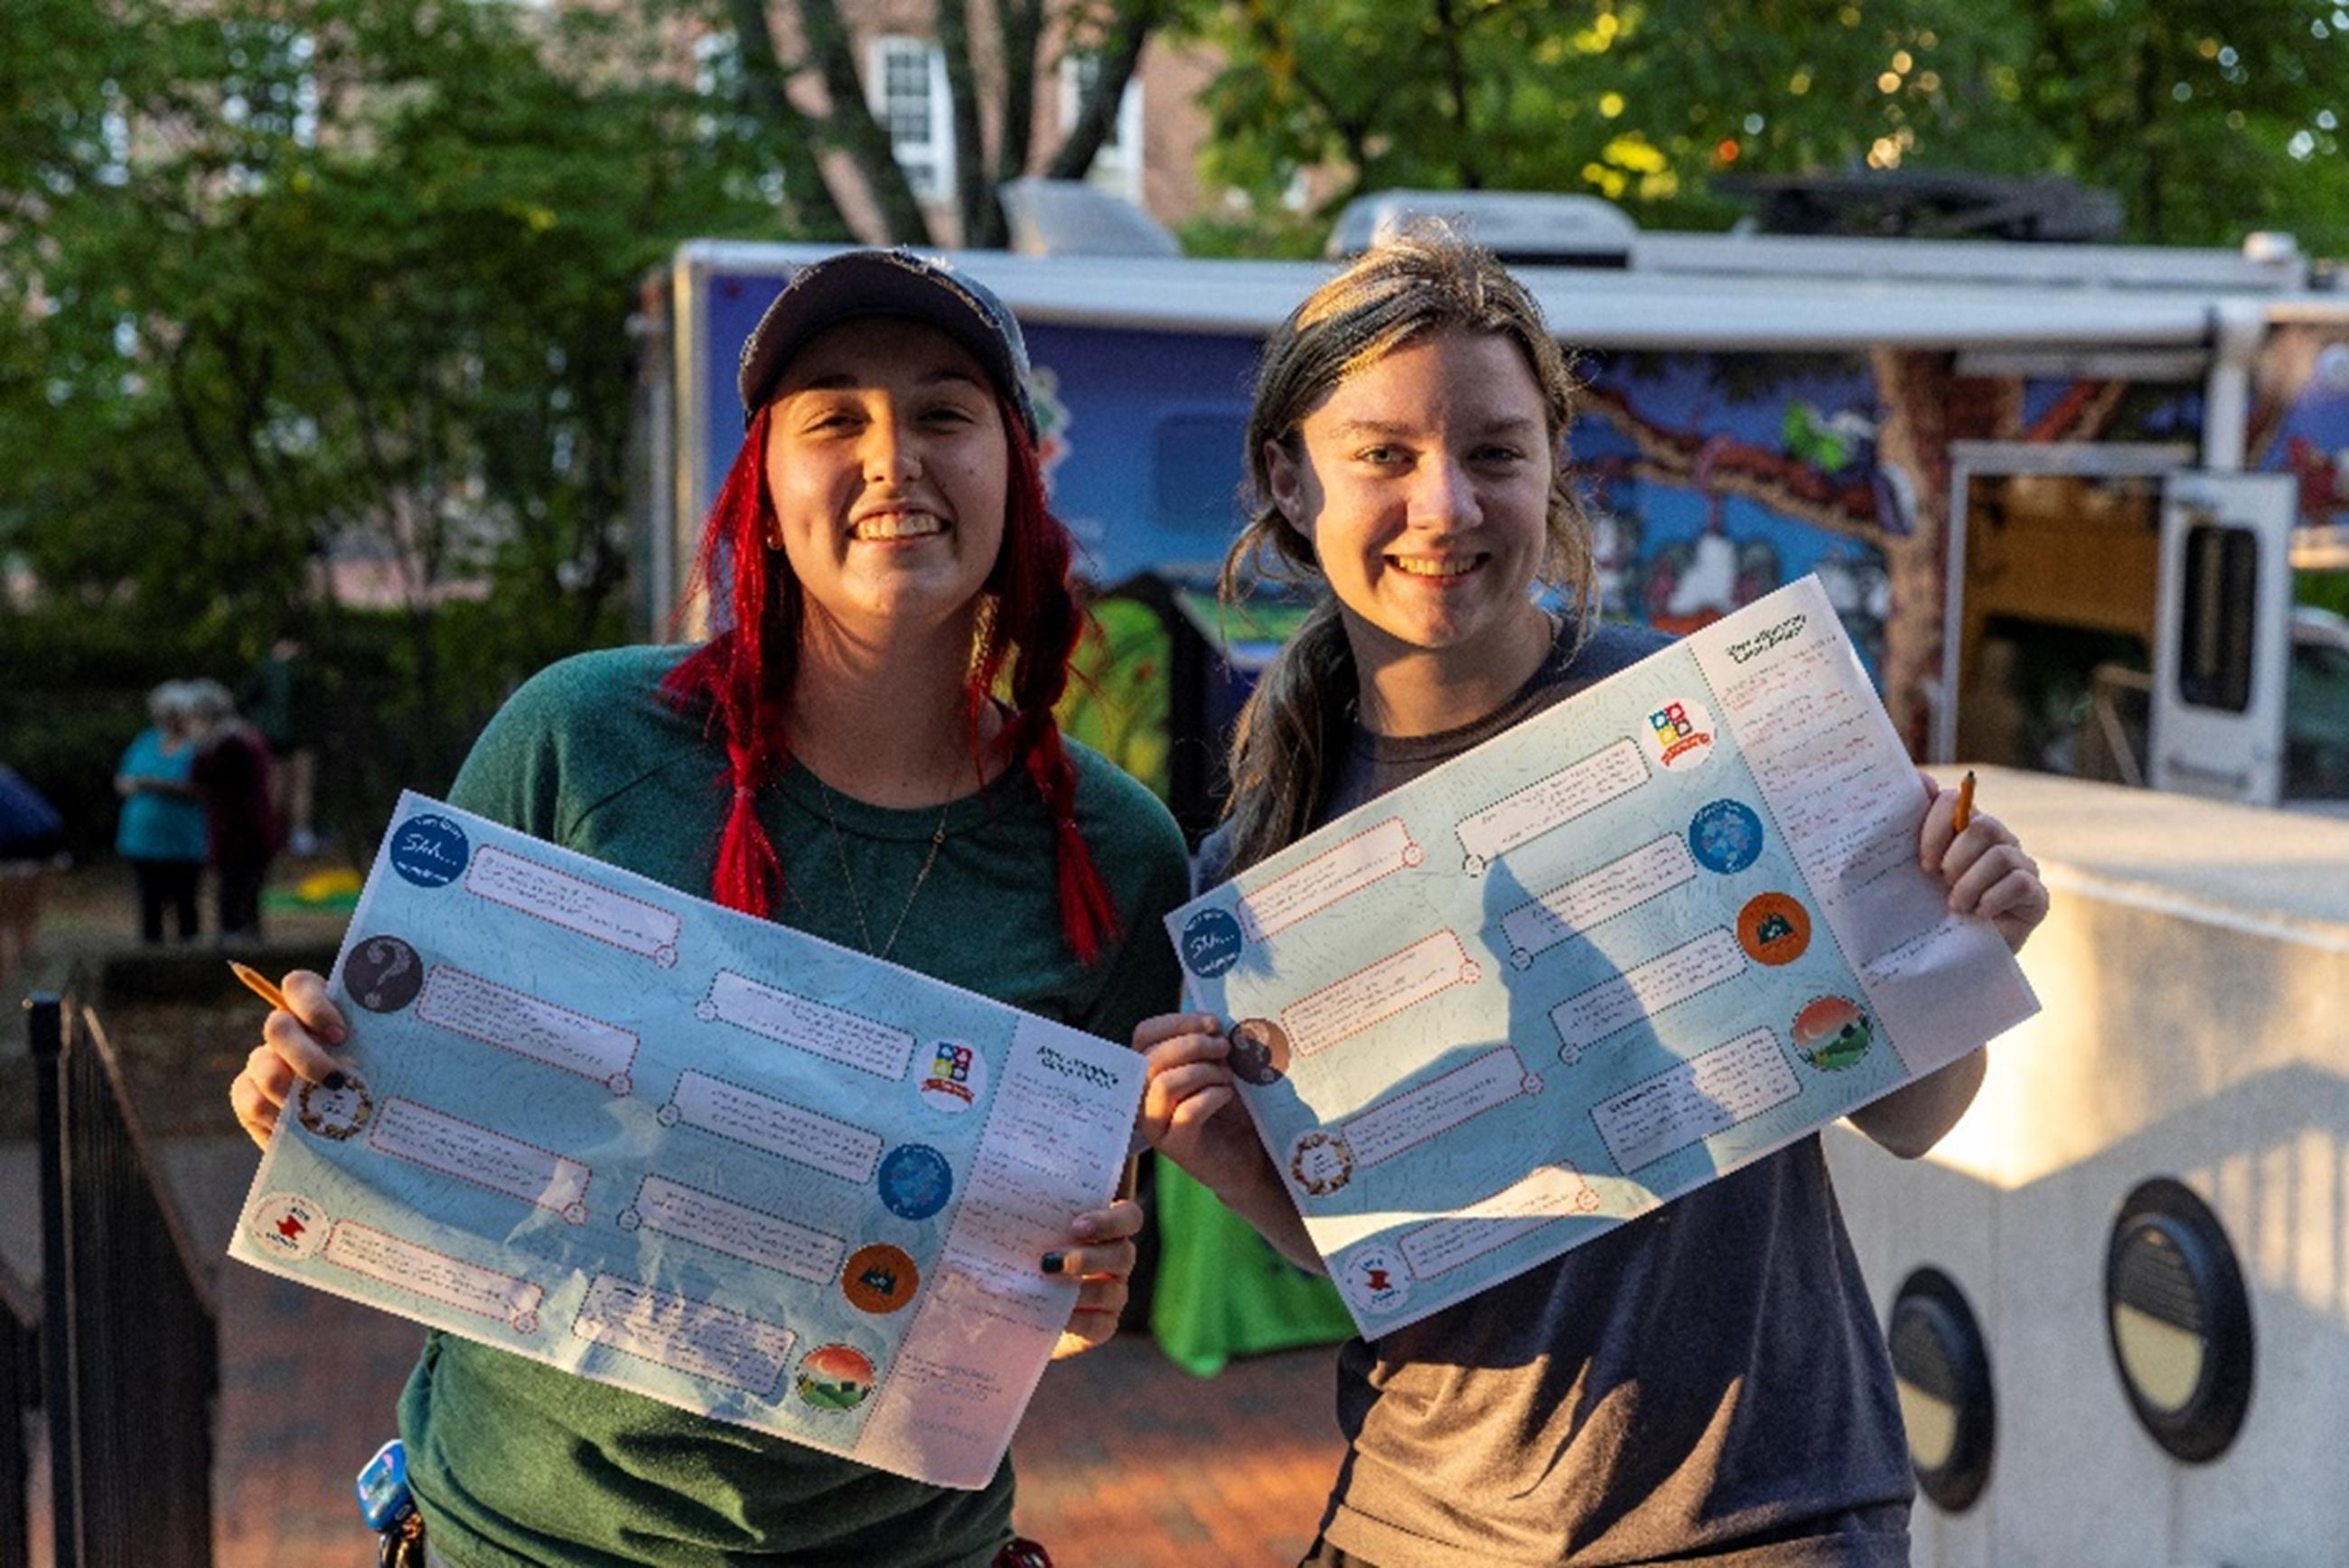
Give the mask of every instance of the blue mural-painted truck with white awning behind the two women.
<path id="1" fill-rule="evenodd" d="M 2295 574 L 2349 569 L 2349 289 L 2288 237 L 1680 235 L 1449 193 L 1374 200 L 1337 249 L 1452 209 L 1579 357 L 1609 614 L 1687 630 L 1816 571 L 1919 759 L 2349 797 L 2349 623 L 2295 614 Z M 644 287 L 646 623 L 740 442 L 738 348 L 822 254 L 693 242 Z M 1238 520 L 1257 343 L 1330 263 L 954 263 L 1027 329 L 1085 576 L 1156 574 L 1174 644 L 1219 635 L 1198 585 Z M 1221 679 L 1193 663 L 1191 686 Z M 1177 757 L 1212 750 L 1229 691 L 1174 705 Z"/>

